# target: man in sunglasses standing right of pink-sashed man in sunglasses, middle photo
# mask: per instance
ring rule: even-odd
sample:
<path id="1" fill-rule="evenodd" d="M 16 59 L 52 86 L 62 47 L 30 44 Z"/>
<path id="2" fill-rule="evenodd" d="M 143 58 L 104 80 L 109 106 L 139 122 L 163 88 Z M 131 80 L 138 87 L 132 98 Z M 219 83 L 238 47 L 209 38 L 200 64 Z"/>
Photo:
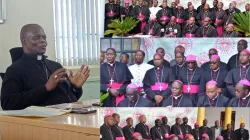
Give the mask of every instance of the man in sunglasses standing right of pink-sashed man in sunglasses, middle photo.
<path id="1" fill-rule="evenodd" d="M 214 49 L 210 49 L 210 53 L 212 54 Z M 207 69 L 201 78 L 201 83 L 199 87 L 199 94 L 205 94 L 206 91 L 206 83 L 209 81 L 215 81 L 217 82 L 217 91 L 218 93 L 222 93 L 224 96 L 229 97 L 226 82 L 224 81 L 225 77 L 227 76 L 227 69 L 222 68 L 222 64 L 224 64 L 224 67 L 227 65 L 225 63 L 222 63 L 220 61 L 220 57 L 218 55 L 212 55 L 210 56 L 210 61 L 208 62 L 210 65 L 209 69 Z M 205 65 L 205 64 L 204 64 Z"/>

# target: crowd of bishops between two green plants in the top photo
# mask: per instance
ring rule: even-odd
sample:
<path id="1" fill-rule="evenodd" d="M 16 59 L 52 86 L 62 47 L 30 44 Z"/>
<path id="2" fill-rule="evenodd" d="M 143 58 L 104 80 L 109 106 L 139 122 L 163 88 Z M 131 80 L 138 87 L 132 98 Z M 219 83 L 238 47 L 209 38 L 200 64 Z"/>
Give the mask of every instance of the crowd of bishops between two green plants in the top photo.
<path id="1" fill-rule="evenodd" d="M 120 0 L 109 0 L 105 5 L 105 31 L 112 19 L 134 17 L 140 22 L 131 34 L 143 34 L 158 37 L 239 37 L 242 34 L 234 31 L 233 17 L 241 11 L 236 7 L 237 2 L 230 3 L 229 8 L 223 10 L 223 2 L 213 1 L 210 8 L 206 0 L 195 9 L 192 2 L 188 8 L 175 0 L 168 7 L 167 0 L 158 6 L 158 0 L 124 0 L 124 7 Z M 243 13 L 247 14 L 250 4 L 246 3 Z M 106 37 L 111 37 L 107 35 Z"/>

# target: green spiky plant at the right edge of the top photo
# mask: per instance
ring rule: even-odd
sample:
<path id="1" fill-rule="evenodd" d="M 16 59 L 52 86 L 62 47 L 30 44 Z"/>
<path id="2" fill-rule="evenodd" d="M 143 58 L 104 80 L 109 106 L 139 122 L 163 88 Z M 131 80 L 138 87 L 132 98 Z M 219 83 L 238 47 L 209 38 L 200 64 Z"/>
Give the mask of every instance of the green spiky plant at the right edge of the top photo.
<path id="1" fill-rule="evenodd" d="M 235 23 L 234 30 L 244 33 L 246 37 L 250 37 L 250 12 L 236 13 L 233 22 Z"/>

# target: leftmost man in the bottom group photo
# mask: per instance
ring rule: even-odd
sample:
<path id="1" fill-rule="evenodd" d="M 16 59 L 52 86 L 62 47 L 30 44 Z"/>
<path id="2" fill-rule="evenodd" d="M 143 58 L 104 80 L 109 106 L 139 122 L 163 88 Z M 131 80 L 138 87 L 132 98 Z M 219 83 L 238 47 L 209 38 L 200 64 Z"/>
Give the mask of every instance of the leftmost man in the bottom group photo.
<path id="1" fill-rule="evenodd" d="M 114 125 L 114 120 L 111 115 L 104 117 L 104 124 L 100 127 L 101 140 L 115 140 L 111 127 Z"/>

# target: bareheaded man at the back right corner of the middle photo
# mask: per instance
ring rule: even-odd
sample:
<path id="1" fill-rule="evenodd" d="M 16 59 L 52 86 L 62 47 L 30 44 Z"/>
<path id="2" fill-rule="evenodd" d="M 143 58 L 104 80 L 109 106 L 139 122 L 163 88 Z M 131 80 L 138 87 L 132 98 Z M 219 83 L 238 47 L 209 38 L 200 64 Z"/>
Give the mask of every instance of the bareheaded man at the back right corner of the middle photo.
<path id="1" fill-rule="evenodd" d="M 238 53 L 233 55 L 232 57 L 230 57 L 230 59 L 228 60 L 228 70 L 231 70 L 233 68 L 236 68 L 238 67 L 240 64 L 240 60 L 239 60 L 239 56 L 240 56 L 240 52 L 243 50 L 243 49 L 246 49 L 247 48 L 247 41 L 244 40 L 244 39 L 241 39 L 238 41 L 237 43 L 237 50 L 238 50 Z"/>

